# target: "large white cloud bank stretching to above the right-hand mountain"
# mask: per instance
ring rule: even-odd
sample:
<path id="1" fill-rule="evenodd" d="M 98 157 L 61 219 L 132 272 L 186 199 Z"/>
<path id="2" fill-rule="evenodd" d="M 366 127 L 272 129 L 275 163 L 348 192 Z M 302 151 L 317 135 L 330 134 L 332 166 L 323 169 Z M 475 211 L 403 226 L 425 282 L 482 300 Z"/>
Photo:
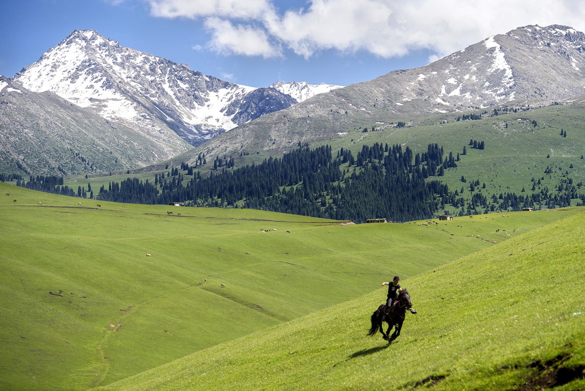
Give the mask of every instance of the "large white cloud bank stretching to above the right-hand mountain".
<path id="1" fill-rule="evenodd" d="M 389 58 L 428 49 L 430 59 L 511 29 L 564 24 L 585 29 L 585 2 L 541 0 L 150 0 L 154 16 L 203 20 L 209 46 L 224 54 L 306 58 L 321 50 Z"/>

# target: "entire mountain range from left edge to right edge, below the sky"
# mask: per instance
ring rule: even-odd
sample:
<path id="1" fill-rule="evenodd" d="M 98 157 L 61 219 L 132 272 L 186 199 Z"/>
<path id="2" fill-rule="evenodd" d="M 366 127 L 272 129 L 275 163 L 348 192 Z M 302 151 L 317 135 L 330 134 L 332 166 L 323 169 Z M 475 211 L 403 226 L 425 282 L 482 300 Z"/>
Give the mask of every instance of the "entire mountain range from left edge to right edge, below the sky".
<path id="1" fill-rule="evenodd" d="M 76 30 L 0 87 L 4 166 L 108 172 L 173 156 L 194 163 L 198 153 L 281 153 L 364 126 L 447 121 L 459 112 L 583 96 L 585 35 L 567 26 L 524 26 L 427 66 L 343 88 L 253 88 Z M 316 94 L 317 87 L 329 91 Z M 309 92 L 316 95 L 305 99 Z M 93 150 L 95 143 L 102 146 Z"/>

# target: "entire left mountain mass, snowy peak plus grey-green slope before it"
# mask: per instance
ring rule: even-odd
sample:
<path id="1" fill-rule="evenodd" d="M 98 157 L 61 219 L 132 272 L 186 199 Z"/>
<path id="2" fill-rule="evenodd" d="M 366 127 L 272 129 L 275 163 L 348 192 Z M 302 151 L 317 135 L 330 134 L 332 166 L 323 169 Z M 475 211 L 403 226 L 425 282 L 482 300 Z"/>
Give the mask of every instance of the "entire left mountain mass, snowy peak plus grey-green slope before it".
<path id="1" fill-rule="evenodd" d="M 75 30 L 15 77 L 0 76 L 0 169 L 68 175 L 148 166 L 328 88 L 275 87 L 282 91 L 229 83 Z"/>

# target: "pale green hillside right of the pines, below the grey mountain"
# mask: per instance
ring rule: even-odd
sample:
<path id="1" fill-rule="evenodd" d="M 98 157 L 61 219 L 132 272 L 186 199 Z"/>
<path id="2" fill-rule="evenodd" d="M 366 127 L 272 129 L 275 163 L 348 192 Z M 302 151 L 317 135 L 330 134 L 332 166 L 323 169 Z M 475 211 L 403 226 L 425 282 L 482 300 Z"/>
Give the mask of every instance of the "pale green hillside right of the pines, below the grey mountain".
<path id="1" fill-rule="evenodd" d="M 463 188 L 461 196 L 469 203 L 474 193 L 499 196 L 501 193 L 527 195 L 548 190 L 555 193 L 559 184 L 567 186 L 572 179 L 577 192 L 583 193 L 585 181 L 585 102 L 510 112 L 498 116 L 484 117 L 478 121 L 455 121 L 452 116 L 429 117 L 428 124 L 417 121 L 407 128 L 388 128 L 387 124 L 367 124 L 375 132 L 363 133 L 353 129 L 337 138 L 325 140 L 335 150 L 345 148 L 354 154 L 363 145 L 381 143 L 408 146 L 414 153 L 426 152 L 429 143 L 443 146 L 445 155 L 460 154 L 455 169 L 445 170 L 445 176 L 433 179 L 448 184 L 451 191 Z M 404 119 L 404 121 L 409 121 Z M 534 126 L 535 121 L 536 126 Z M 560 132 L 566 132 L 563 137 Z M 484 141 L 485 149 L 472 149 L 470 140 Z M 315 143 L 321 145 L 321 143 Z M 463 154 L 466 148 L 467 155 Z M 547 172 L 547 168 L 550 169 Z M 462 182 L 464 177 L 466 182 Z M 533 182 L 532 179 L 535 181 Z M 480 187 L 470 191 L 472 180 L 479 180 Z M 540 183 L 538 180 L 541 180 Z M 532 186 L 535 184 L 534 190 Z M 524 189 L 524 191 L 522 191 Z M 573 201 L 573 205 L 576 200 Z M 452 214 L 458 212 L 451 207 Z M 480 213 L 483 212 L 481 208 Z"/>

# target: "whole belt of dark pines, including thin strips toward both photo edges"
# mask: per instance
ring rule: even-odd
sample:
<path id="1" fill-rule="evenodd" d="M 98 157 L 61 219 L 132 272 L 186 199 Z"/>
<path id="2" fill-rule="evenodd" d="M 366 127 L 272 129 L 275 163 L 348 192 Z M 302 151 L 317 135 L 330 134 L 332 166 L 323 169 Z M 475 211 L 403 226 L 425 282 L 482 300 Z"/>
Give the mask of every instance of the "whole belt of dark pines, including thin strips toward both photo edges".
<path id="1" fill-rule="evenodd" d="M 470 140 L 471 148 L 484 149 L 483 141 Z M 481 193 L 479 180 L 461 182 L 471 197 L 462 196 L 463 187 L 451 191 L 439 177 L 457 167 L 455 158 L 443 147 L 429 144 L 426 152 L 414 155 L 407 146 L 381 143 L 364 145 L 353 156 L 340 149 L 333 157 L 331 146 L 310 149 L 307 144 L 281 158 L 269 157 L 260 164 L 234 168 L 233 158 L 214 160 L 214 169 L 202 175 L 196 166 L 182 163 L 166 173 L 157 173 L 154 181 L 136 178 L 109 182 L 97 196 L 91 188 L 63 186 L 62 177 L 31 176 L 18 178 L 18 186 L 49 193 L 77 195 L 104 201 L 140 204 L 181 203 L 192 207 L 254 208 L 313 217 L 350 220 L 386 218 L 404 222 L 436 217 L 438 214 L 484 214 L 519 211 L 522 208 L 570 206 L 572 200 L 585 204 L 585 195 L 577 193 L 571 180 L 559 184 L 556 191 L 543 188 L 531 193 Z M 465 152 L 463 152 L 465 155 Z M 205 162 L 205 159 L 200 159 Z M 199 162 L 199 160 L 198 160 Z M 207 164 L 207 162 L 202 163 Z M 201 164 L 198 163 L 199 166 Z M 536 180 L 535 180 L 536 181 Z M 89 186 L 89 185 L 88 185 Z M 483 184 L 485 187 L 485 184 Z"/>

